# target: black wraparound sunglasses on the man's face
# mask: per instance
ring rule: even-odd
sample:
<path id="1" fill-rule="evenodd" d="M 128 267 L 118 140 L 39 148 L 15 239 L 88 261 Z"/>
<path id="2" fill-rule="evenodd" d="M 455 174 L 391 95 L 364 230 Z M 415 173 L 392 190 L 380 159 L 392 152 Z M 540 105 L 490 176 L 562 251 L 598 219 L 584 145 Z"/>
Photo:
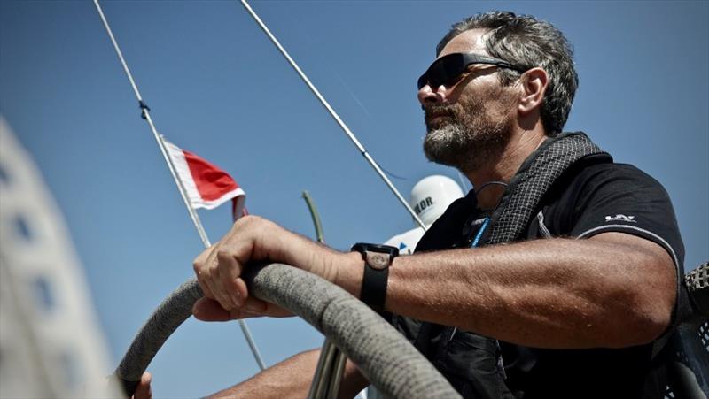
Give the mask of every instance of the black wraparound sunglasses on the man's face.
<path id="1" fill-rule="evenodd" d="M 472 64 L 496 65 L 501 68 L 513 69 L 520 73 L 524 72 L 518 66 L 499 58 L 475 53 L 453 53 L 433 61 L 431 66 L 426 69 L 426 72 L 418 78 L 418 89 L 420 90 L 426 84 L 430 84 L 432 88 L 438 88 L 440 85 L 447 87 L 453 85 L 458 77 Z"/>

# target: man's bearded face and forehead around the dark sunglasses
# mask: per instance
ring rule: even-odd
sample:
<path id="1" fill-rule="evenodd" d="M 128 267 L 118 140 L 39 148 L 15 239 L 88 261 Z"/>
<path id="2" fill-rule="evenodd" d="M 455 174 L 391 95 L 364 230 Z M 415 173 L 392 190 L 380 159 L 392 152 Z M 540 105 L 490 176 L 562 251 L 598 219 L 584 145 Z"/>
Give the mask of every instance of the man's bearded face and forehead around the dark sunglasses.
<path id="1" fill-rule="evenodd" d="M 487 55 L 482 36 L 472 29 L 454 37 L 440 57 L 459 52 Z M 436 163 L 475 171 L 494 161 L 510 140 L 514 98 L 498 81 L 495 66 L 470 65 L 468 73 L 450 84 L 418 91 L 425 111 L 426 157 Z"/>

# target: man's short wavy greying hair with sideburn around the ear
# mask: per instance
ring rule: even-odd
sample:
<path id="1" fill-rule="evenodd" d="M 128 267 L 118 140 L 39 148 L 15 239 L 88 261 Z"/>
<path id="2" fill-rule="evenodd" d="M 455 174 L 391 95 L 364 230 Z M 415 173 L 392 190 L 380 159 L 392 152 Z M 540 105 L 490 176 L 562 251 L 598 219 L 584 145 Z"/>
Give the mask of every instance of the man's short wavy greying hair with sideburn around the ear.
<path id="1" fill-rule="evenodd" d="M 579 76 L 573 66 L 573 48 L 556 27 L 529 15 L 514 12 L 485 12 L 463 19 L 451 27 L 436 46 L 436 55 L 451 39 L 470 29 L 487 29 L 487 53 L 522 69 L 539 66 L 549 74 L 549 86 L 541 105 L 541 124 L 547 135 L 561 133 L 571 111 Z M 517 71 L 501 68 L 500 82 L 509 85 Z"/>

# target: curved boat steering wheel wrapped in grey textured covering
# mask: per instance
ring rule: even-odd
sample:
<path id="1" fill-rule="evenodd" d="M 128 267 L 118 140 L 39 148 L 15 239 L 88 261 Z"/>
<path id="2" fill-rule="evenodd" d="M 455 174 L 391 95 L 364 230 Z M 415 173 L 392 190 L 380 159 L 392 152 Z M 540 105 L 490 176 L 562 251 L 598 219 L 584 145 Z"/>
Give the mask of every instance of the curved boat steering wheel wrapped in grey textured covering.
<path id="1" fill-rule="evenodd" d="M 283 264 L 253 267 L 244 278 L 250 293 L 300 316 L 333 341 L 385 397 L 461 397 L 393 326 L 344 289 Z M 135 393 L 152 358 L 202 296 L 197 280 L 190 279 L 153 311 L 114 373 L 126 395 Z"/>

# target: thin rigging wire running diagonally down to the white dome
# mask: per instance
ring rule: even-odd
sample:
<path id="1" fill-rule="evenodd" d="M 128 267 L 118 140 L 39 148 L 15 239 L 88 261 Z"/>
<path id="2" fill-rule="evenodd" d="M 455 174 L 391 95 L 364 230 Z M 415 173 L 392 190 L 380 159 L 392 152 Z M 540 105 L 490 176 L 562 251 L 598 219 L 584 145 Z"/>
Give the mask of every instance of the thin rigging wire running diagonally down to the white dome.
<path id="1" fill-rule="evenodd" d="M 335 121 L 338 123 L 339 127 L 341 127 L 342 130 L 345 132 L 345 134 L 347 134 L 347 137 L 349 137 L 350 141 L 352 141 L 352 143 L 357 148 L 357 150 L 360 151 L 360 153 L 362 154 L 362 157 L 364 157 L 364 159 L 366 159 L 367 162 L 370 163 L 371 167 L 374 168 L 374 170 L 378 173 L 379 177 L 382 178 L 382 180 L 384 180 L 384 182 L 386 183 L 386 186 L 390 190 L 392 190 L 393 195 L 396 196 L 396 198 L 399 200 L 399 202 L 401 202 L 401 204 L 404 206 L 404 208 L 406 208 L 406 210 L 409 211 L 411 216 L 418 223 L 418 226 L 421 226 L 424 230 L 426 230 L 426 226 L 425 226 L 424 222 L 418 218 L 418 215 L 416 214 L 416 212 L 413 209 L 411 209 L 411 206 L 409 206 L 409 203 L 407 203 L 406 200 L 404 199 L 404 197 L 401 196 L 401 194 L 399 193 L 399 190 L 397 190 L 396 187 L 394 187 L 392 181 L 386 177 L 386 174 L 382 171 L 381 167 L 377 164 L 377 162 L 374 160 L 374 158 L 372 158 L 370 156 L 370 153 L 367 152 L 367 150 L 362 146 L 362 143 L 360 143 L 359 140 L 357 140 L 357 137 L 354 136 L 354 134 L 349 129 L 349 127 L 347 127 L 345 122 L 339 118 L 338 113 L 335 112 L 334 109 L 332 109 L 330 103 L 328 103 L 327 100 L 325 100 L 323 95 L 320 94 L 320 91 L 315 87 L 315 85 L 313 85 L 312 82 L 310 82 L 310 80 L 308 79 L 308 76 L 306 76 L 306 74 L 303 73 L 303 71 L 300 69 L 300 66 L 298 66 L 298 64 L 296 64 L 295 61 L 293 61 L 293 59 L 288 54 L 288 52 L 284 49 L 284 47 L 281 45 L 281 43 L 278 42 L 276 36 L 271 34 L 269 27 L 266 27 L 266 24 L 263 23 L 263 21 L 261 20 L 261 18 L 259 18 L 259 16 L 256 14 L 256 12 L 253 12 L 253 9 L 246 2 L 246 0 L 240 0 L 240 1 L 241 1 L 241 4 L 246 9 L 246 11 L 252 16 L 253 20 L 256 21 L 256 23 L 259 25 L 259 27 L 261 27 L 261 30 L 263 31 L 263 33 L 265 33 L 267 36 L 269 36 L 270 41 L 273 42 L 273 44 L 277 47 L 277 49 L 281 52 L 281 54 L 284 56 L 284 58 L 288 61 L 288 63 L 295 70 L 295 72 L 300 75 L 300 79 L 302 79 L 305 82 L 305 84 L 308 86 L 310 91 L 313 92 L 313 94 L 317 97 L 318 100 L 320 100 L 320 103 L 323 104 L 325 109 L 328 112 L 330 112 L 330 115 L 332 116 L 332 118 L 335 119 Z"/>

